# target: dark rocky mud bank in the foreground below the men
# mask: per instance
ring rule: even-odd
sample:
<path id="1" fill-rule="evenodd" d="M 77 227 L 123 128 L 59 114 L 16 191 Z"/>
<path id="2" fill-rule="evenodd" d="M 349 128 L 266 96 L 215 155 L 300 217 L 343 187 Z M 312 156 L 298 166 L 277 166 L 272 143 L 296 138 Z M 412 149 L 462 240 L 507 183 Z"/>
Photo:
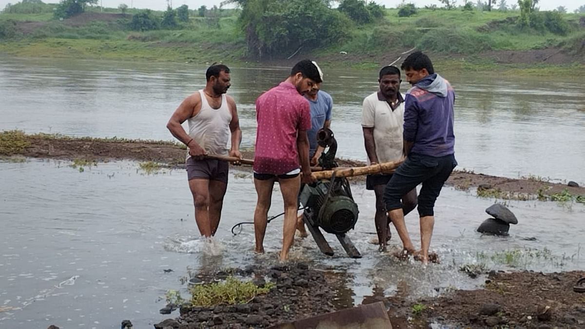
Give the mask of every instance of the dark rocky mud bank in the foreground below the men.
<path id="1" fill-rule="evenodd" d="M 271 268 L 250 267 L 195 275 L 205 285 L 236 273 L 260 287 L 270 287 L 247 303 L 181 307 L 180 317 L 168 318 L 154 328 L 181 326 L 212 328 L 264 328 L 343 309 L 331 303 L 342 285 L 343 273 L 289 263 Z M 390 297 L 380 293 L 362 304 L 383 302 L 393 328 L 449 327 L 580 327 L 585 324 L 585 296 L 573 291 L 583 271 L 563 273 L 495 272 L 476 290 L 441 291 L 439 297 L 412 300 L 408 285 L 398 284 Z"/>

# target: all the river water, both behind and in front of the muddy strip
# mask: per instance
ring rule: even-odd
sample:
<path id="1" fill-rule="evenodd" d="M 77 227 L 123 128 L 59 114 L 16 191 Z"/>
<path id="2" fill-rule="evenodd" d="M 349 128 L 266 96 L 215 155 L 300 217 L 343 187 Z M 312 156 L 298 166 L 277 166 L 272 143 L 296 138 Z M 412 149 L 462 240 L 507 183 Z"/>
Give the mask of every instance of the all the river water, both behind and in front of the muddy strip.
<path id="1" fill-rule="evenodd" d="M 335 101 L 333 129 L 339 155 L 364 159 L 361 99 L 376 88 L 376 72 L 329 69 L 324 90 Z M 164 125 L 180 100 L 200 88 L 202 68 L 180 64 L 0 59 L 0 129 L 75 136 L 169 139 Z M 242 116 L 245 145 L 253 145 L 253 101 L 285 76 L 285 68 L 233 68 L 230 90 Z M 448 76 L 448 74 L 445 74 Z M 577 81 L 449 77 L 458 92 L 456 135 L 460 167 L 517 177 L 534 174 L 585 181 L 585 90 Z M 487 80 L 486 80 L 487 79 Z M 330 81 L 330 82 L 329 82 Z M 404 88 L 407 86 L 404 85 Z M 84 172 L 68 162 L 26 159 L 0 163 L 0 327 L 113 328 L 129 318 L 147 328 L 167 316 L 158 309 L 169 289 L 187 294 L 190 272 L 271 263 L 281 243 L 281 220 L 267 231 L 266 256 L 253 255 L 253 228 L 233 237 L 230 228 L 252 220 L 255 194 L 246 173 L 232 173 L 215 248 L 202 252 L 183 170 L 146 174 L 135 162 L 99 163 Z M 278 189 L 278 187 L 276 187 Z M 432 247 L 440 265 L 424 269 L 376 251 L 373 194 L 352 187 L 360 220 L 350 238 L 362 259 L 319 253 L 311 239 L 293 256 L 329 272 L 346 272 L 336 303 L 359 304 L 374 292 L 435 296 L 470 289 L 457 269 L 584 269 L 581 204 L 512 201 L 519 224 L 511 237 L 474 229 L 494 200 L 451 188 L 436 207 Z M 274 194 L 271 215 L 282 207 Z M 407 216 L 418 243 L 417 215 Z M 525 238 L 536 238 L 527 241 Z M 396 243 L 396 238 L 394 238 Z M 174 272 L 166 273 L 165 269 Z"/>

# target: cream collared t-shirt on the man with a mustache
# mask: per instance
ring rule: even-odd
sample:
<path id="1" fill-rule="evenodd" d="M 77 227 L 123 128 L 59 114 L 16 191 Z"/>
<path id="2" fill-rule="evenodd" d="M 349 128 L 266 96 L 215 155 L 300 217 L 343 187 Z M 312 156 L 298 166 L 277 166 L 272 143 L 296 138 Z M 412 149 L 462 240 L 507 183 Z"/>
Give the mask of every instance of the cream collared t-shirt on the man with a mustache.
<path id="1" fill-rule="evenodd" d="M 404 100 L 404 95 L 402 95 Z M 380 162 L 400 160 L 402 156 L 402 131 L 404 130 L 404 101 L 392 111 L 390 104 L 378 98 L 374 92 L 364 98 L 362 107 L 362 126 L 374 128 L 376 155 Z M 370 159 L 367 159 L 368 165 Z"/>

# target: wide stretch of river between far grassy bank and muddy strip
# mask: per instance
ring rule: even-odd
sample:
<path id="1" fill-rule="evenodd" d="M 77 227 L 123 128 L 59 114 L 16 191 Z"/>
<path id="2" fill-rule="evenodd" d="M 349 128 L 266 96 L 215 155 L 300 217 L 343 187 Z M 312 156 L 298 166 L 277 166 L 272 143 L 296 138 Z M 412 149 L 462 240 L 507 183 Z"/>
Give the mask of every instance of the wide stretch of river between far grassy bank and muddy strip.
<path id="1" fill-rule="evenodd" d="M 229 63 L 228 63 L 229 64 Z M 233 67 L 243 145 L 255 138 L 254 100 L 288 68 Z M 542 176 L 585 183 L 585 87 L 579 77 L 453 75 L 460 168 L 498 176 Z M 0 129 L 75 136 L 170 139 L 165 128 L 183 98 L 204 84 L 190 64 L 0 58 Z M 377 72 L 326 68 L 335 102 L 339 155 L 365 159 L 361 102 Z M 402 85 L 406 91 L 408 85 Z"/>

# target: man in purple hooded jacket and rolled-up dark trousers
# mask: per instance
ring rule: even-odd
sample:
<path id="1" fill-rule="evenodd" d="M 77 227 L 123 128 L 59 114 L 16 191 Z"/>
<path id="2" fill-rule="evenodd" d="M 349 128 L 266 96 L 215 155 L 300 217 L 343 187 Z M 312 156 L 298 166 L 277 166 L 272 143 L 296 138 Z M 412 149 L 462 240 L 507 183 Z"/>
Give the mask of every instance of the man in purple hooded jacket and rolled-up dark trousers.
<path id="1" fill-rule="evenodd" d="M 438 74 L 428 56 L 410 54 L 401 66 L 412 85 L 404 109 L 404 155 L 407 159 L 392 176 L 384 191 L 384 202 L 402 240 L 403 252 L 413 254 L 424 264 L 429 261 L 429 246 L 435 217 L 433 207 L 455 160 L 453 104 L 455 92 Z M 400 198 L 422 183 L 418 195 L 421 225 L 421 251 L 415 251 L 408 235 Z"/>

